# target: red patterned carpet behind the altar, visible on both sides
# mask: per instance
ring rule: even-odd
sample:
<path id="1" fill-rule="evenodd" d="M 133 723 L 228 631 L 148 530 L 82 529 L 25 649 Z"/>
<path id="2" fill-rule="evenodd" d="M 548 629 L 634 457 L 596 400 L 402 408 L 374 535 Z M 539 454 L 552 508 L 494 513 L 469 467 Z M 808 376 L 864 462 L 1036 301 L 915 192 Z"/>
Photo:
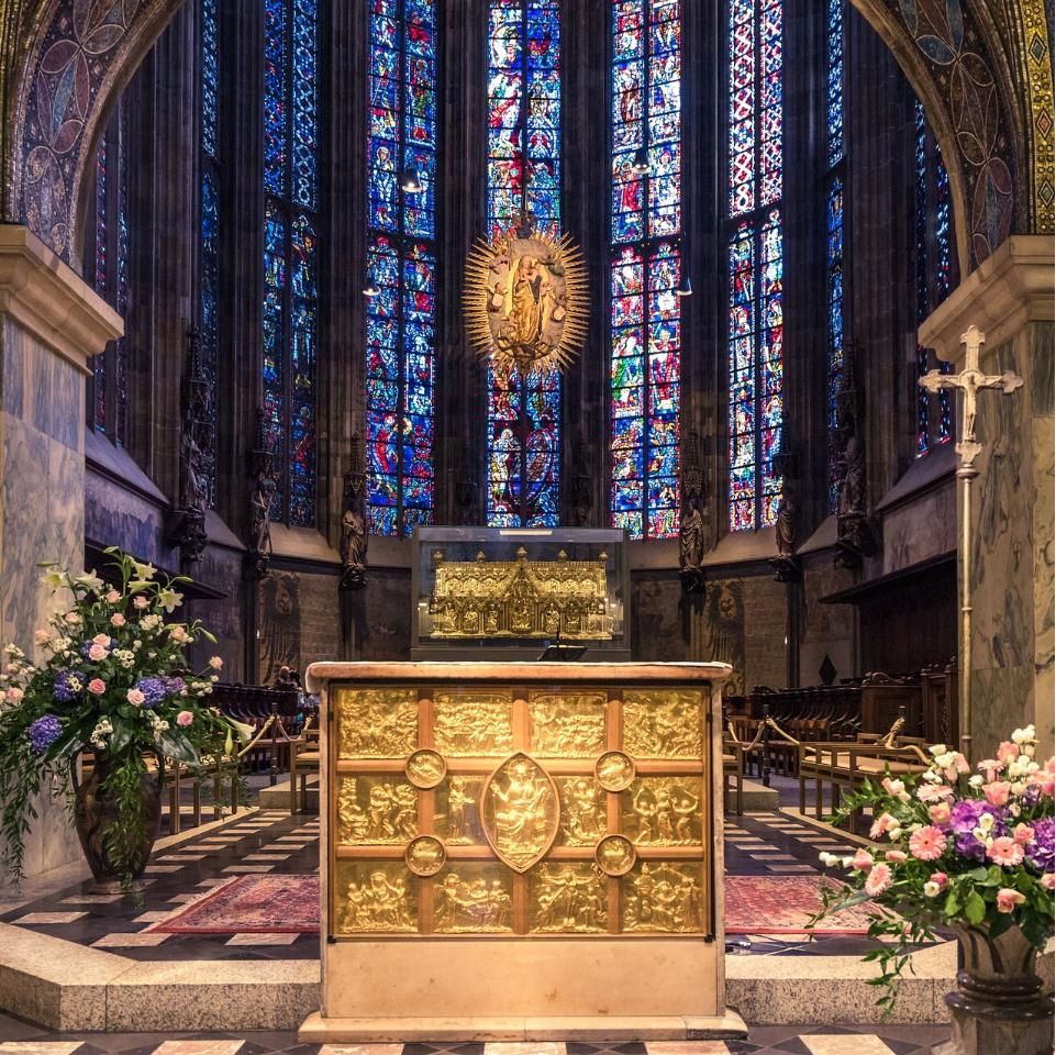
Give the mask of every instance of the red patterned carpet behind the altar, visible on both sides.
<path id="1" fill-rule="evenodd" d="M 805 934 L 820 904 L 816 876 L 726 876 L 727 934 Z M 816 934 L 865 934 L 869 906 L 826 920 Z M 238 876 L 147 928 L 168 934 L 316 933 L 318 876 Z"/>

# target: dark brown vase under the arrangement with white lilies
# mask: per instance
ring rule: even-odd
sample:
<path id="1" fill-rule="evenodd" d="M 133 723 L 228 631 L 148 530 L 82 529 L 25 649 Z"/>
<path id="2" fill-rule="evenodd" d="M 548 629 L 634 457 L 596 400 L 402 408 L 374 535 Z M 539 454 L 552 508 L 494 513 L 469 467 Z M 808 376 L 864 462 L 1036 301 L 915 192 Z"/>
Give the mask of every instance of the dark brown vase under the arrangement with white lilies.
<path id="1" fill-rule="evenodd" d="M 151 848 L 157 839 L 162 823 L 162 785 L 155 774 L 145 773 L 140 781 L 140 797 L 143 801 L 143 837 L 140 842 L 140 866 L 132 878 L 131 887 L 122 887 L 122 875 L 110 860 L 107 834 L 118 819 L 118 808 L 113 798 L 102 785 L 109 774 L 109 764 L 97 756 L 96 765 L 88 777 L 75 782 L 74 826 L 85 852 L 88 867 L 95 882 L 92 893 L 121 893 L 123 890 L 143 889 L 143 870 L 151 858 Z"/>

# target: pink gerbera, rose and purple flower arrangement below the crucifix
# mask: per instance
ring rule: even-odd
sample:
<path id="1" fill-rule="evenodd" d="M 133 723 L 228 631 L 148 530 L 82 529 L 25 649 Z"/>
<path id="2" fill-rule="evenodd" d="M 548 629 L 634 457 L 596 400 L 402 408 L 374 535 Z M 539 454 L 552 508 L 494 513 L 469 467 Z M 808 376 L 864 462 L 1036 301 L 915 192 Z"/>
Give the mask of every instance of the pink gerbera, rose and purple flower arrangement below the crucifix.
<path id="1" fill-rule="evenodd" d="M 869 837 L 882 848 L 821 854 L 848 876 L 846 886 L 823 886 L 811 923 L 868 900 L 892 910 L 870 917 L 869 935 L 894 942 L 865 957 L 880 965 L 871 984 L 883 987 L 877 1003 L 887 1011 L 911 946 L 933 941 L 935 926 L 982 924 L 997 937 L 1015 924 L 1037 949 L 1052 936 L 1056 770 L 1053 758 L 1035 759 L 1036 745 L 1033 725 L 1018 729 L 972 773 L 961 753 L 936 744 L 919 777 L 866 781 L 837 811 L 845 819 L 870 808 Z"/>

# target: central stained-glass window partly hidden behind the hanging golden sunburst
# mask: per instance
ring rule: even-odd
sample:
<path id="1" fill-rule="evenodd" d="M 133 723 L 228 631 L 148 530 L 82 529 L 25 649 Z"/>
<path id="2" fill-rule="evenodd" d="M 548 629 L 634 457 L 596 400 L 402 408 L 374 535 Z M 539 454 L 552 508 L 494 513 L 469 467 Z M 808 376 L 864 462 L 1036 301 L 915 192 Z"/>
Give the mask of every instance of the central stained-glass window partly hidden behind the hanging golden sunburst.
<path id="1" fill-rule="evenodd" d="M 560 108 L 558 0 L 489 0 L 489 237 L 560 233 Z M 560 407 L 557 370 L 489 367 L 488 524 L 557 525 Z"/>

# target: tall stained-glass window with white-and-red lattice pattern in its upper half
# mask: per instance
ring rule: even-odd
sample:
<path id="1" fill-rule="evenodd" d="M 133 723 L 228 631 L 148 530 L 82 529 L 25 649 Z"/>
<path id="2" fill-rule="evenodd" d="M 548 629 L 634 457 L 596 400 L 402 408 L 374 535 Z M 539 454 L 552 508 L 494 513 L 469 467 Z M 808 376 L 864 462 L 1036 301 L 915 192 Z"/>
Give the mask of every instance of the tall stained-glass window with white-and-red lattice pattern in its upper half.
<path id="1" fill-rule="evenodd" d="M 781 0 L 729 0 L 730 529 L 775 523 L 783 418 Z"/>

